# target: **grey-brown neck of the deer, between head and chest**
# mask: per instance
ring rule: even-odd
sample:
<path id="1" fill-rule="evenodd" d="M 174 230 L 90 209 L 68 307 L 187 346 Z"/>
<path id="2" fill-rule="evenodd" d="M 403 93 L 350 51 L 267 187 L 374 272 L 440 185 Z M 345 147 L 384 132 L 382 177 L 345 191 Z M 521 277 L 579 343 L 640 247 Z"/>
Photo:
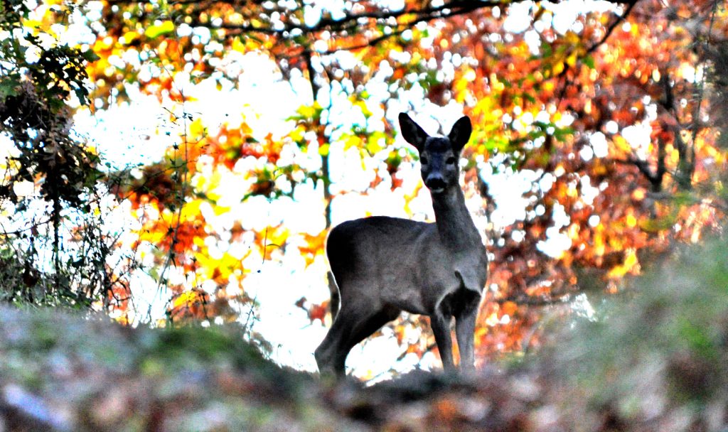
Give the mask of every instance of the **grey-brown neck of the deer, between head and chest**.
<path id="1" fill-rule="evenodd" d="M 432 195 L 435 209 L 435 224 L 443 244 L 453 252 L 481 249 L 480 233 L 472 222 L 465 206 L 465 196 L 459 187 L 449 188 L 443 193 Z"/>

